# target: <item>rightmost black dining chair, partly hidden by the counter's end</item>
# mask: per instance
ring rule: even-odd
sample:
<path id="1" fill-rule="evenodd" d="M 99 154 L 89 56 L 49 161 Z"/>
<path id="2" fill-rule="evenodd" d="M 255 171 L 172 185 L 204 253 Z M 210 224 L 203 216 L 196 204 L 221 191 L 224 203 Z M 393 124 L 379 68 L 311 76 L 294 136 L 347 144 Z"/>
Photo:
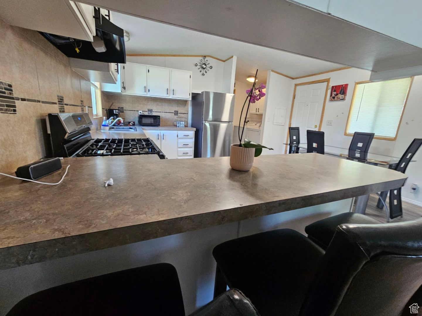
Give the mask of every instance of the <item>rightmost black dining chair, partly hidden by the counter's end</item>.
<path id="1" fill-rule="evenodd" d="M 411 162 L 413 156 L 419 150 L 422 145 L 422 138 L 415 138 L 409 147 L 407 147 L 406 151 L 404 152 L 403 156 L 401 156 L 398 163 L 394 165 L 390 165 L 391 169 L 399 171 L 401 173 L 405 173 L 406 169 Z M 387 199 L 388 191 L 383 191 L 380 193 L 380 198 L 378 199 L 378 203 L 376 206 L 380 209 L 383 208 L 385 204 L 385 200 Z M 390 190 L 390 218 L 396 217 L 403 217 L 403 208 L 401 205 L 401 187 L 398 189 Z"/>

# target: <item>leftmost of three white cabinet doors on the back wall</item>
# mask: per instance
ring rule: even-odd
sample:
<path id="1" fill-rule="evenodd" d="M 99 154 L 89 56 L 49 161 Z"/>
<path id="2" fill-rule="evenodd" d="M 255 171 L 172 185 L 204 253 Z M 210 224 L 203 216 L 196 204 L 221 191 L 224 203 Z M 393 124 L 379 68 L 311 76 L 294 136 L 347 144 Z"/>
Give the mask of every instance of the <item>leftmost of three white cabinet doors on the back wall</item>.
<path id="1" fill-rule="evenodd" d="M 126 63 L 123 86 L 125 89 L 122 93 L 146 95 L 146 65 Z"/>

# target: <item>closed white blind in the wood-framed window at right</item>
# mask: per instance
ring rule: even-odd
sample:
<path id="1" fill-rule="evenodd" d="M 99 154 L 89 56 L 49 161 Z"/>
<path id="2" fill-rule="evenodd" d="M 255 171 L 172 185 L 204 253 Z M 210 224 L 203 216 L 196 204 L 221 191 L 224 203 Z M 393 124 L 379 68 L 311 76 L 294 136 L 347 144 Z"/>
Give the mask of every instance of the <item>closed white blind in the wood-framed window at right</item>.
<path id="1" fill-rule="evenodd" d="M 395 138 L 411 78 L 358 83 L 347 134 L 355 131 Z"/>

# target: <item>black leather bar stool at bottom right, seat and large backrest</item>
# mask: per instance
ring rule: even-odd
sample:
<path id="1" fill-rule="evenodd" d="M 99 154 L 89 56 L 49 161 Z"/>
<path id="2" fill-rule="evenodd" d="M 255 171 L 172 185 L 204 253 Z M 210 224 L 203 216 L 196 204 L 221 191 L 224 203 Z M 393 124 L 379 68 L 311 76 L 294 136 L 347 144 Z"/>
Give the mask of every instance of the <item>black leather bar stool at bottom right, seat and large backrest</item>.
<path id="1" fill-rule="evenodd" d="M 217 286 L 240 289 L 262 316 L 399 316 L 422 284 L 422 219 L 340 225 L 325 253 L 280 229 L 226 241 L 213 255 Z"/>

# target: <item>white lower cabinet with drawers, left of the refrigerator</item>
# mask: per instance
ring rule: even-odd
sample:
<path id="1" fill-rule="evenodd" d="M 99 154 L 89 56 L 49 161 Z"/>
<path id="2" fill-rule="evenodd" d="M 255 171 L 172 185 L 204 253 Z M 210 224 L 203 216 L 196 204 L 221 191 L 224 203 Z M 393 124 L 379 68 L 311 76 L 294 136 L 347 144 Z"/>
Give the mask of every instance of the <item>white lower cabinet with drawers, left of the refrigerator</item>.
<path id="1" fill-rule="evenodd" d="M 193 158 L 193 131 L 143 131 L 162 151 L 165 158 Z"/>

